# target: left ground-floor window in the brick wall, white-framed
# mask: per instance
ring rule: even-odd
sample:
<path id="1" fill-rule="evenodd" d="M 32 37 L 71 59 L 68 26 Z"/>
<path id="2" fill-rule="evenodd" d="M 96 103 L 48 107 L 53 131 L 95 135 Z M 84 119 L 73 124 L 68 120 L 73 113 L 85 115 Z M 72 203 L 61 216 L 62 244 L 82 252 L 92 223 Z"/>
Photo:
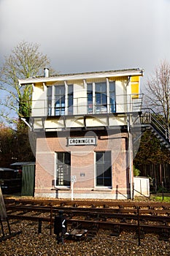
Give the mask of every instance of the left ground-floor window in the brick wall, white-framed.
<path id="1" fill-rule="evenodd" d="M 70 186 L 71 154 L 56 152 L 56 186 Z"/>

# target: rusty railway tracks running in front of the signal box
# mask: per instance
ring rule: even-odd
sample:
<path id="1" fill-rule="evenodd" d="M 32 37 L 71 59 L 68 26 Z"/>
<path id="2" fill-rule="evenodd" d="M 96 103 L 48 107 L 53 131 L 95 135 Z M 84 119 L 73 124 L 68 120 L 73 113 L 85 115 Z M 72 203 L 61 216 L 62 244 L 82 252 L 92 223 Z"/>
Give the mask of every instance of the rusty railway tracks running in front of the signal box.
<path id="1" fill-rule="evenodd" d="M 59 212 L 70 227 L 90 230 L 109 229 L 113 236 L 123 230 L 134 230 L 141 238 L 145 233 L 156 233 L 162 240 L 170 238 L 170 203 L 127 202 L 127 201 L 85 201 L 85 200 L 9 200 L 4 198 L 9 219 L 27 219 L 50 225 Z"/>

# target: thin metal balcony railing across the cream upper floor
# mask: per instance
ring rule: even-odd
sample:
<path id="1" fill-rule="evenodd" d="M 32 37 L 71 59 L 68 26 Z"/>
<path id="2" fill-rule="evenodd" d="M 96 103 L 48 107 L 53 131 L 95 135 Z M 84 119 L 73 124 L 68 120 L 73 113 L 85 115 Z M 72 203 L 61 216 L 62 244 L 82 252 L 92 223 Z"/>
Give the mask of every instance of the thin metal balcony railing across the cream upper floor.
<path id="1" fill-rule="evenodd" d="M 31 117 L 37 116 L 76 116 L 93 115 L 104 113 L 131 113 L 142 110 L 143 94 L 121 94 L 116 95 L 115 99 L 105 97 L 105 102 L 97 102 L 96 97 L 91 100 L 88 97 L 73 97 L 72 105 L 69 105 L 65 97 L 56 101 L 50 99 L 37 99 L 32 101 Z"/>

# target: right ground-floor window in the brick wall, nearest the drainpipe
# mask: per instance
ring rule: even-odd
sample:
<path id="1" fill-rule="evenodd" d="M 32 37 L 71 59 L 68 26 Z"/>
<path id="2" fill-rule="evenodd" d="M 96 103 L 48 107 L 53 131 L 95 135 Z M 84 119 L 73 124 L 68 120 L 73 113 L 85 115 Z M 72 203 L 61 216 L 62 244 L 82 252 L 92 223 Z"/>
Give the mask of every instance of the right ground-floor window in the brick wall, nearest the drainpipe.
<path id="1" fill-rule="evenodd" d="M 96 152 L 96 186 L 112 187 L 111 151 Z"/>

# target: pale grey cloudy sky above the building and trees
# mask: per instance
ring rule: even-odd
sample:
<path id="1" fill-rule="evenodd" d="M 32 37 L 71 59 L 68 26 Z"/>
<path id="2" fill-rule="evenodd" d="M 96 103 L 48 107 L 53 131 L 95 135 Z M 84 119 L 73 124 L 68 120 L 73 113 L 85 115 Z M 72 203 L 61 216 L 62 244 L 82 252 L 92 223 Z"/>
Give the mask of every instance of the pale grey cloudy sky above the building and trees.
<path id="1" fill-rule="evenodd" d="M 144 86 L 170 62 L 170 0 L 0 0 L 0 66 L 22 41 L 61 74 L 139 67 Z"/>

